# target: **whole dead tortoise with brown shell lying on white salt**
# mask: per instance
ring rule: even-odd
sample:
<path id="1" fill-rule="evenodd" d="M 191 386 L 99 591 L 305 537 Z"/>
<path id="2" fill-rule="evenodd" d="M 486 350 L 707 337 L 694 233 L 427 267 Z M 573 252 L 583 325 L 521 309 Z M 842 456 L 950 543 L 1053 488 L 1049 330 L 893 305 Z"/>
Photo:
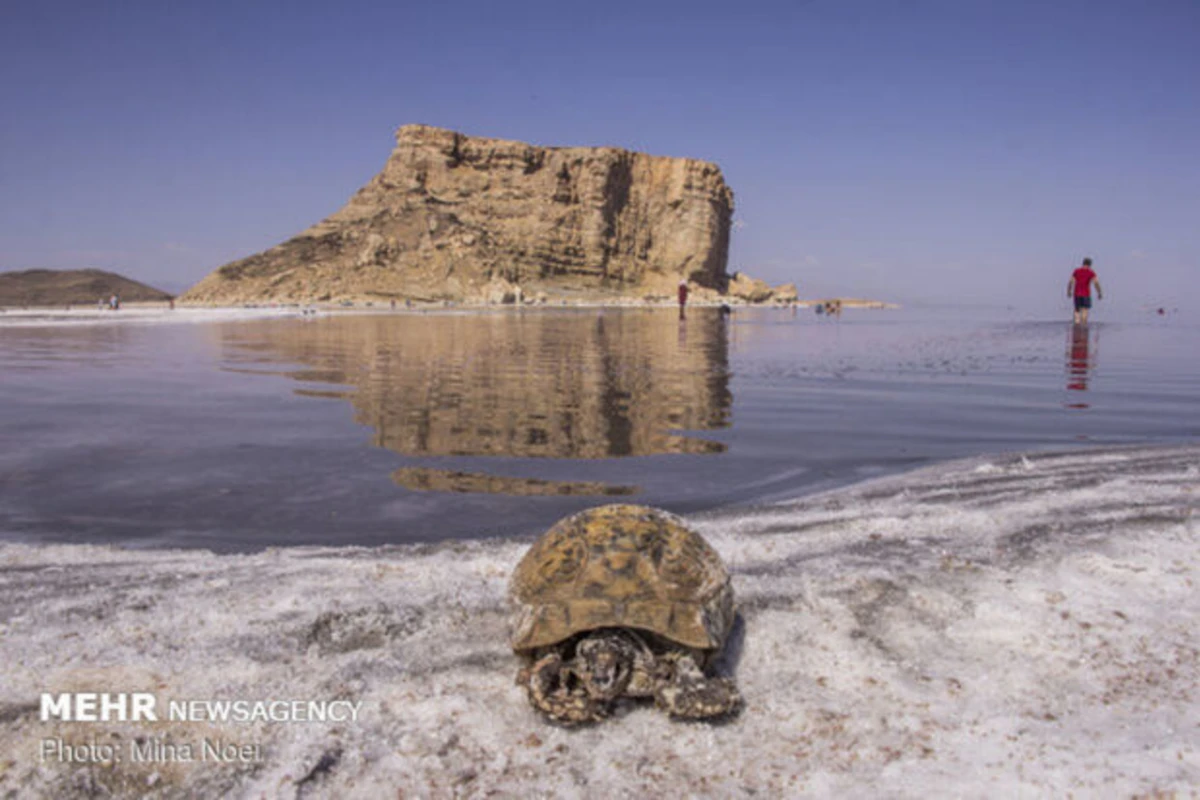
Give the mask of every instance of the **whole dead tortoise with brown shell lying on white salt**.
<path id="1" fill-rule="evenodd" d="M 718 717 L 742 702 L 706 674 L 733 625 L 730 575 L 678 517 L 635 505 L 558 522 L 509 587 L 517 676 L 529 702 L 566 723 L 608 716 L 618 698 L 653 697 L 674 717 Z"/>

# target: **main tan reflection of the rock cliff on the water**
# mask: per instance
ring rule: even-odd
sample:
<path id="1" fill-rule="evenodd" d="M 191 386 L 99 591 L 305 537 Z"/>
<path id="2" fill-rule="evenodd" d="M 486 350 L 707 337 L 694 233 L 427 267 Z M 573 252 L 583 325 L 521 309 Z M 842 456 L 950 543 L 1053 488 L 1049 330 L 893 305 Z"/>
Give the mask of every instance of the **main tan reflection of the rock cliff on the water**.
<path id="1" fill-rule="evenodd" d="M 347 386 L 342 396 L 374 428 L 374 444 L 406 456 L 725 449 L 672 433 L 728 421 L 725 321 L 706 309 L 685 321 L 612 311 L 334 317 L 239 338 L 226 337 L 239 361 L 300 363 L 287 374 Z"/>

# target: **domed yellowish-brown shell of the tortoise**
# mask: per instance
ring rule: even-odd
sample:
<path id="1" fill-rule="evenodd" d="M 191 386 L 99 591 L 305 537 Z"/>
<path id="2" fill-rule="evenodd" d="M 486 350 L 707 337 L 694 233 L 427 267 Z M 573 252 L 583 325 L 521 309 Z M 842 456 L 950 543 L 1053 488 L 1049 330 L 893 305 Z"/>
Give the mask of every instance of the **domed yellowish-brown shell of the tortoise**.
<path id="1" fill-rule="evenodd" d="M 521 559 L 509 596 L 518 652 L 599 627 L 716 650 L 733 624 L 721 557 L 682 519 L 647 506 L 600 506 L 559 521 Z"/>

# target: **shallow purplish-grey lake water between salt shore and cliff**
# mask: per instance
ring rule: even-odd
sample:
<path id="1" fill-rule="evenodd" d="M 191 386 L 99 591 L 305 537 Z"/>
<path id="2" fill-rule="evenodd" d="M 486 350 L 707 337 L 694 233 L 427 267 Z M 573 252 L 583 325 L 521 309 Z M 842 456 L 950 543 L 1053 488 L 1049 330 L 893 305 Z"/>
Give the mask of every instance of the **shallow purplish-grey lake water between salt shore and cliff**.
<path id="1" fill-rule="evenodd" d="M 124 312 L 122 312 L 124 313 Z M 0 319 L 0 537 L 258 551 L 689 513 L 1200 435 L 1196 321 L 946 309 Z"/>

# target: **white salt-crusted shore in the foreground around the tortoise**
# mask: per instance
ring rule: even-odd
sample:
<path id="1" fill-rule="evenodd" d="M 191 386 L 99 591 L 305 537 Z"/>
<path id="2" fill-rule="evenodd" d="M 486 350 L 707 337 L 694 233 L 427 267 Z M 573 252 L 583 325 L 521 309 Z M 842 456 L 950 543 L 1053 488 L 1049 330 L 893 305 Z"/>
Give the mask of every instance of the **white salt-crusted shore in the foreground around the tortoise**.
<path id="1" fill-rule="evenodd" d="M 742 612 L 725 666 L 746 706 L 718 726 L 536 716 L 504 630 L 527 542 L 4 545 L 0 794 L 1195 793 L 1198 487 L 1200 446 L 1086 450 L 694 517 Z M 67 691 L 362 705 L 337 723 L 42 722 L 40 696 Z M 122 760 L 43 759 L 55 738 Z M 205 738 L 260 760 L 130 758 Z"/>

